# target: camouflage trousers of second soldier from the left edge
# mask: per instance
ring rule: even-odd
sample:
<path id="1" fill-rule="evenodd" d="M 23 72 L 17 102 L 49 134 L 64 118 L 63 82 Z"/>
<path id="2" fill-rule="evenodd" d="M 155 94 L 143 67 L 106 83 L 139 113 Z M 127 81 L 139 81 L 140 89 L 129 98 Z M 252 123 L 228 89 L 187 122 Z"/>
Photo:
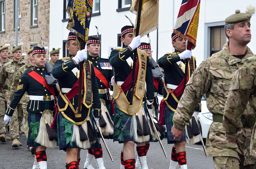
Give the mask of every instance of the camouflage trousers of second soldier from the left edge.
<path id="1" fill-rule="evenodd" d="M 18 104 L 17 108 L 15 108 L 14 113 L 9 121 L 11 141 L 14 138 L 19 139 L 19 135 L 21 134 L 22 123 L 23 123 L 22 104 Z"/>

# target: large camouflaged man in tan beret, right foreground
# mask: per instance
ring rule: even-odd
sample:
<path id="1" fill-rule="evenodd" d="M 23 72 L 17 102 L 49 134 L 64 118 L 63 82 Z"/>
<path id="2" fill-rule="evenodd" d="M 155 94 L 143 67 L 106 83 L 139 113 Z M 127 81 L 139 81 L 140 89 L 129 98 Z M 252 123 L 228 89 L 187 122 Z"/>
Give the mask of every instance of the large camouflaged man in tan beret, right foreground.
<path id="1" fill-rule="evenodd" d="M 222 123 L 232 76 L 243 66 L 246 58 L 253 55 L 246 46 L 251 41 L 250 18 L 251 14 L 240 13 L 239 10 L 226 18 L 225 30 L 229 41 L 221 51 L 208 57 L 195 70 L 173 116 L 172 133 L 174 139 L 179 139 L 202 95 L 206 93 L 207 107 L 213 114 L 213 122 L 206 140 L 206 151 L 208 156 L 213 157 L 216 169 L 255 169 L 256 160 L 249 157 L 249 144 L 244 143 L 251 133 L 240 130 L 237 141 L 228 142 Z M 245 117 L 251 114 L 250 106 L 247 106 L 243 113 Z"/>

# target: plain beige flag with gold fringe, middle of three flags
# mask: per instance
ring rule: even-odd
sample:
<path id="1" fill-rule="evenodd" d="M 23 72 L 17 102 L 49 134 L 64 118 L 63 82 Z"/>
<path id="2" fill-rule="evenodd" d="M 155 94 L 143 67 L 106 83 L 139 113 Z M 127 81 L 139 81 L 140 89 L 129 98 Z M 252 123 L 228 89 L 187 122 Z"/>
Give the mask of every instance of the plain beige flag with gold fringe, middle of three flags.
<path id="1" fill-rule="evenodd" d="M 130 11 L 137 14 L 139 0 L 133 0 Z M 159 0 L 142 0 L 139 35 L 145 36 L 158 28 Z M 138 15 L 137 15 L 138 17 Z M 136 35 L 137 18 L 133 34 Z"/>

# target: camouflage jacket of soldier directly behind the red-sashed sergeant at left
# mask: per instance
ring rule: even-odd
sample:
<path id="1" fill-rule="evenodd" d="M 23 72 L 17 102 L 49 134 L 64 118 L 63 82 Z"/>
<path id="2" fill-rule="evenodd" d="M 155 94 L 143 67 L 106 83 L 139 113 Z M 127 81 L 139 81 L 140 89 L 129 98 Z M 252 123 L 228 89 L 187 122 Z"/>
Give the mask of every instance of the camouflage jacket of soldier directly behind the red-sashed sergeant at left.
<path id="1" fill-rule="evenodd" d="M 19 84 L 19 79 L 22 76 L 22 74 L 27 70 L 27 69 L 32 69 L 34 66 L 31 65 L 29 63 L 29 61 L 27 61 L 25 63 L 25 65 L 23 65 L 22 67 L 19 68 L 19 70 L 15 73 L 15 77 L 14 77 L 14 81 L 12 83 L 11 86 L 11 94 L 9 97 L 9 100 L 12 100 L 13 96 L 14 96 L 14 91 L 17 89 L 17 86 Z M 27 92 L 25 92 L 25 94 L 23 95 L 22 99 L 20 100 L 21 104 L 27 104 L 29 101 L 29 96 L 27 94 Z"/>

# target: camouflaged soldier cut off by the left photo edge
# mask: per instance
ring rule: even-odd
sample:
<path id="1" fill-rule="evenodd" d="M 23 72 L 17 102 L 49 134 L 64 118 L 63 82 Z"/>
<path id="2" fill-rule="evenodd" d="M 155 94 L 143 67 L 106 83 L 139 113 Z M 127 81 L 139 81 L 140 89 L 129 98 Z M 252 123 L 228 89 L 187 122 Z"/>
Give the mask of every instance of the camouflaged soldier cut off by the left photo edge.
<path id="1" fill-rule="evenodd" d="M 1 56 L 0 71 L 2 69 L 2 66 L 10 62 L 10 60 L 8 59 L 8 46 L 6 45 L 1 46 L 0 48 L 0 56 Z M 1 142 L 5 142 L 6 140 L 11 139 L 10 137 L 6 136 L 5 124 L 3 122 L 4 113 L 7 108 L 7 102 L 5 101 L 5 92 L 7 88 L 8 88 L 7 85 L 4 85 L 3 87 L 0 88 L 1 89 L 1 92 L 0 92 L 0 141 Z"/>

